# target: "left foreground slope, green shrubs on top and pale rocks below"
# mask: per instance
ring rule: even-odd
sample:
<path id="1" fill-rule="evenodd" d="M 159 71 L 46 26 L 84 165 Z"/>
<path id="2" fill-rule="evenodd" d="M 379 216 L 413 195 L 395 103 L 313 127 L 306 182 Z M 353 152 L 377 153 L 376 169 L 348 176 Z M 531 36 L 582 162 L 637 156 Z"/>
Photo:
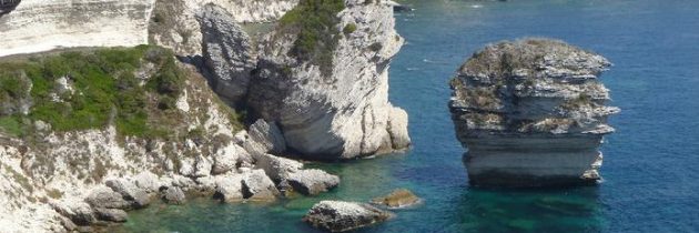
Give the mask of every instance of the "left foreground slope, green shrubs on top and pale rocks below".
<path id="1" fill-rule="evenodd" d="M 93 231 L 158 199 L 271 202 L 340 182 L 269 154 L 284 148 L 278 130 L 259 121 L 249 134 L 196 69 L 164 49 L 73 51 L 0 68 L 0 100 L 29 105 L 0 112 L 3 232 Z"/>

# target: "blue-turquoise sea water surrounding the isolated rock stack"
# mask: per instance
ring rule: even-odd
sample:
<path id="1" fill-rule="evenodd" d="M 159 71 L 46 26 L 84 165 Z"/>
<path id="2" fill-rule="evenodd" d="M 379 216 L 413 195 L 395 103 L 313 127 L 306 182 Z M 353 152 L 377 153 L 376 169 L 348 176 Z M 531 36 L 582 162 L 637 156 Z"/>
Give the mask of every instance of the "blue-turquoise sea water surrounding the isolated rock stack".
<path id="1" fill-rule="evenodd" d="M 406 154 L 316 164 L 342 176 L 317 197 L 276 204 L 155 205 L 123 232 L 314 232 L 302 215 L 320 200 L 368 201 L 408 188 L 424 204 L 361 232 L 699 232 L 699 1 L 403 1 L 406 44 L 391 100 L 411 116 Z M 467 185 L 447 110 L 447 80 L 488 42 L 550 37 L 615 63 L 602 75 L 617 133 L 602 146 L 597 186 L 483 190 Z"/>

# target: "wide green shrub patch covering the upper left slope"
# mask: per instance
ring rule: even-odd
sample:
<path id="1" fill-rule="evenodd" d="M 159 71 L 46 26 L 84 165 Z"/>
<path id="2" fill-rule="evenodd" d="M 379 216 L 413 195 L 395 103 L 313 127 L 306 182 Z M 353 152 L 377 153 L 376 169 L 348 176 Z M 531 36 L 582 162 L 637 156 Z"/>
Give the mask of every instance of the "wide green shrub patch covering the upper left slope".
<path id="1" fill-rule="evenodd" d="M 153 64 L 153 78 L 145 85 L 136 78 L 145 63 Z M 23 78 L 31 81 L 23 83 Z M 67 87 L 57 80 L 65 79 Z M 30 123 L 41 120 L 59 132 L 103 128 L 113 123 L 124 135 L 145 136 L 154 131 L 150 102 L 160 110 L 174 108 L 184 88 L 185 74 L 169 50 L 140 45 L 133 49 L 100 49 L 63 52 L 21 62 L 0 63 L 0 101 L 17 102 L 31 97 L 28 115 L 0 112 L 0 130 L 22 135 Z M 27 123 L 22 123 L 27 122 Z"/>

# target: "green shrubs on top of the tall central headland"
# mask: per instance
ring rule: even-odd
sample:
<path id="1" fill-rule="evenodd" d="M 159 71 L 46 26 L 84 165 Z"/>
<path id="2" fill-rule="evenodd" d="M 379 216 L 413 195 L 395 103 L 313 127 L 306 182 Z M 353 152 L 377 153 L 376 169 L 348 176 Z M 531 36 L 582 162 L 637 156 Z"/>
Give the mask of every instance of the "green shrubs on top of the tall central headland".
<path id="1" fill-rule="evenodd" d="M 341 37 L 337 13 L 344 9 L 344 0 L 301 0 L 280 20 L 283 31 L 297 37 L 290 55 L 310 61 L 318 65 L 324 75 L 330 75 L 333 51 Z"/>

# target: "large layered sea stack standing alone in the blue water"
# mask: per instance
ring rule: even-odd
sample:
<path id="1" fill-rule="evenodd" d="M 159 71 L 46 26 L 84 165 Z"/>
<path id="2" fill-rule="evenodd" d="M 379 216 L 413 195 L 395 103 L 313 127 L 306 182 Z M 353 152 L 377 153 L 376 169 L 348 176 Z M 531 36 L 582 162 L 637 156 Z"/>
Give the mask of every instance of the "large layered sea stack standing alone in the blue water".
<path id="1" fill-rule="evenodd" d="M 487 45 L 452 80 L 449 102 L 474 185 L 544 186 L 600 179 L 599 146 L 618 108 L 601 55 L 547 39 Z"/>

